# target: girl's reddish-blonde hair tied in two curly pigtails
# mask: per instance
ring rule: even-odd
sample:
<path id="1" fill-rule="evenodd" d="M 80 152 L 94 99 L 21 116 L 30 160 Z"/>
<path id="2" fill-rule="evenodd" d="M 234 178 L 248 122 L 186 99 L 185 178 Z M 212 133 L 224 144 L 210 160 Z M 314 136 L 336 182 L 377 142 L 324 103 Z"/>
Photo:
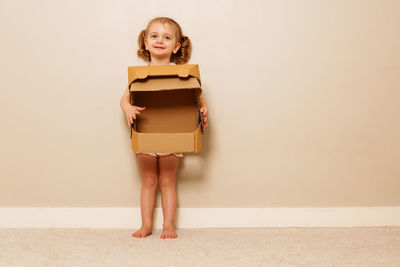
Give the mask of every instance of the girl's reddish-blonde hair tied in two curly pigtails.
<path id="1" fill-rule="evenodd" d="M 146 50 L 144 40 L 146 39 L 147 31 L 149 30 L 152 23 L 168 23 L 175 29 L 176 40 L 177 42 L 181 43 L 181 47 L 175 54 L 173 53 L 171 55 L 170 61 L 176 64 L 184 64 L 188 62 L 192 52 L 192 43 L 190 42 L 189 37 L 182 35 L 181 26 L 179 26 L 179 24 L 175 20 L 167 17 L 158 17 L 152 19 L 149 24 L 147 24 L 147 28 L 140 32 L 138 37 L 139 49 L 137 51 L 137 55 L 145 61 L 151 61 L 150 52 Z"/>

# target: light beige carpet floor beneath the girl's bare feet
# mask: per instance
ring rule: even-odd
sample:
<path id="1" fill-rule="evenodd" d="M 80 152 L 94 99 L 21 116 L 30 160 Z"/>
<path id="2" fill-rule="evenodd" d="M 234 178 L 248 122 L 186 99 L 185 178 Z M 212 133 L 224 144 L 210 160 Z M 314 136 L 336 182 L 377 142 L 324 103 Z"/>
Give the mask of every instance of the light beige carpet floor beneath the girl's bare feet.
<path id="1" fill-rule="evenodd" d="M 0 229 L 0 266 L 400 266 L 400 227 Z"/>

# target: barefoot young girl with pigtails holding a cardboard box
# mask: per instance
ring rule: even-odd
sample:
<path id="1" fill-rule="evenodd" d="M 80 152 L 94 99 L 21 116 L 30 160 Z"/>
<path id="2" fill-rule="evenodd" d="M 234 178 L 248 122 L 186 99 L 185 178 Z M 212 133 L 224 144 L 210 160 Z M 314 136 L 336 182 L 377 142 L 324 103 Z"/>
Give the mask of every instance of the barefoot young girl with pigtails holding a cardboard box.
<path id="1" fill-rule="evenodd" d="M 149 62 L 149 65 L 184 64 L 190 58 L 191 43 L 182 35 L 181 27 L 173 19 L 159 17 L 151 20 L 138 39 L 138 56 Z M 128 126 L 133 119 L 140 116 L 145 107 L 130 104 L 129 86 L 121 98 L 121 109 L 125 112 Z M 200 97 L 200 111 L 204 127 L 207 127 L 206 102 Z M 163 231 L 160 238 L 176 238 L 175 211 L 177 206 L 176 170 L 182 154 L 173 153 L 137 153 L 142 189 L 140 208 L 142 227 L 132 234 L 144 238 L 152 233 L 153 212 L 156 201 L 157 185 L 160 184 L 161 203 L 164 214 Z"/>

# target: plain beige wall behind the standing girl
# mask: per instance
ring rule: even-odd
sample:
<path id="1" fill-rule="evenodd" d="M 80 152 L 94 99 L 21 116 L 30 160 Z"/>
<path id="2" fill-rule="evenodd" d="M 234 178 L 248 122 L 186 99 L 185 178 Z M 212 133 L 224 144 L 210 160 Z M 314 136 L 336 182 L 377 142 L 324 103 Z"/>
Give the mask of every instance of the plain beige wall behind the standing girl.
<path id="1" fill-rule="evenodd" d="M 399 1 L 39 2 L 0 1 L 0 206 L 139 206 L 119 99 L 159 15 L 210 106 L 180 207 L 400 205 Z"/>

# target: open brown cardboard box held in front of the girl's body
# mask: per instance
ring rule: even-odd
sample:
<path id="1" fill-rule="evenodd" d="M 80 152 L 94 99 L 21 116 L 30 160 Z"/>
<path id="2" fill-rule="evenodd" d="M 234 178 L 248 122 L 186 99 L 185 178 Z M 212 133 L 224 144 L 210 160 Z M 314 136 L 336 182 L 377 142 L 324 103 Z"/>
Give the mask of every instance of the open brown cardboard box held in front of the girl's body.
<path id="1" fill-rule="evenodd" d="M 146 107 L 132 125 L 135 152 L 199 152 L 203 131 L 198 65 L 128 67 L 131 103 Z"/>

